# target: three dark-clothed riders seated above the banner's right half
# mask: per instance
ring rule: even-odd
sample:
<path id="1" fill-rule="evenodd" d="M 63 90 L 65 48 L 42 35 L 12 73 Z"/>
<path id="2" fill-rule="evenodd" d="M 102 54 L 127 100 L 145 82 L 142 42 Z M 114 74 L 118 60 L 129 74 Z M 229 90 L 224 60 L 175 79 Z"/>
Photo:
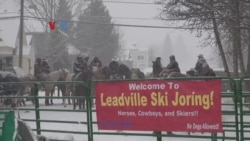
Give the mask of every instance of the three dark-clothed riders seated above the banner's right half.
<path id="1" fill-rule="evenodd" d="M 181 72 L 179 63 L 176 61 L 175 56 L 169 57 L 169 64 L 166 67 L 162 66 L 161 57 L 157 57 L 153 62 L 153 77 L 160 77 L 161 71 L 165 68 L 168 72 Z M 206 59 L 202 54 L 198 55 L 198 60 L 194 66 L 197 76 L 206 76 L 211 68 L 209 67 Z"/>

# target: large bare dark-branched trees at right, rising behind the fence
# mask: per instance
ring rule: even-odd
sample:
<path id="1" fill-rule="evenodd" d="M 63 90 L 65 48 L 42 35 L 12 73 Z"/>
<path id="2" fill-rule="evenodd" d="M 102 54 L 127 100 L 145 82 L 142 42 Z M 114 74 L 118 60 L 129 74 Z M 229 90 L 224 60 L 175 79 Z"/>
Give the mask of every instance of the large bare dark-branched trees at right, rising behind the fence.
<path id="1" fill-rule="evenodd" d="M 161 18 L 186 21 L 181 27 L 199 34 L 203 31 L 210 33 L 208 38 L 218 47 L 228 76 L 228 58 L 232 58 L 234 76 L 239 77 L 238 67 L 246 75 L 242 53 L 242 25 L 249 20 L 247 3 L 249 2 L 244 0 L 171 0 L 164 5 Z M 225 41 L 230 44 L 223 44 Z"/>

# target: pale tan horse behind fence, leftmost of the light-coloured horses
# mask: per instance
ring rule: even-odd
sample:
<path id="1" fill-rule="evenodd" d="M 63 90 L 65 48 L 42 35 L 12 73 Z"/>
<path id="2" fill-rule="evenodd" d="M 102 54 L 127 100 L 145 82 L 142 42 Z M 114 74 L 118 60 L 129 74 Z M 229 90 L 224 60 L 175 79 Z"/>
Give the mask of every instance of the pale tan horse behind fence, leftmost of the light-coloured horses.
<path id="1" fill-rule="evenodd" d="M 59 80 L 65 80 L 67 75 L 67 72 L 65 69 L 60 69 L 57 71 L 53 71 L 51 73 L 49 73 L 48 75 L 45 76 L 45 80 L 46 81 L 59 81 Z M 53 83 L 44 83 L 44 90 L 45 90 L 45 105 L 50 105 L 53 104 L 53 100 L 52 100 L 52 94 L 54 91 L 54 87 L 55 84 Z M 48 96 L 51 96 L 51 99 L 49 101 Z"/>

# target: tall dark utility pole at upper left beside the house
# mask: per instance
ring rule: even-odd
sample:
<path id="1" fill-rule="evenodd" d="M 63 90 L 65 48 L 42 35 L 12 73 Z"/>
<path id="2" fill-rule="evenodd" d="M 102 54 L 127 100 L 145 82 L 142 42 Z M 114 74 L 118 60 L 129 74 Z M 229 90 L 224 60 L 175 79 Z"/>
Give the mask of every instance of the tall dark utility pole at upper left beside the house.
<path id="1" fill-rule="evenodd" d="M 23 13 L 24 13 L 24 0 L 21 0 L 20 10 L 20 27 L 19 27 L 19 67 L 22 68 L 23 63 Z"/>

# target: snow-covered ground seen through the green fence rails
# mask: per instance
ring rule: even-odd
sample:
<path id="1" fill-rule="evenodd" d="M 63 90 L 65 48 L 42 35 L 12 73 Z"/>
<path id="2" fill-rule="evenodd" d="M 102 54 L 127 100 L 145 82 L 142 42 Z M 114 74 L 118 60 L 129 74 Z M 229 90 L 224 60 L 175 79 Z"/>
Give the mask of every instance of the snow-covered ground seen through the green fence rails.
<path id="1" fill-rule="evenodd" d="M 39 95 L 43 95 L 43 92 L 40 92 Z M 75 124 L 69 124 L 69 123 L 56 123 L 56 122 L 41 122 L 41 128 L 47 129 L 47 130 L 62 130 L 62 131 L 75 131 L 75 132 L 87 132 L 87 124 L 84 123 L 87 121 L 86 112 L 66 112 L 66 110 L 72 110 L 72 105 L 67 105 L 67 107 L 64 107 L 62 105 L 61 99 L 54 99 L 54 105 L 52 106 L 45 106 L 44 100 L 40 100 L 41 109 L 48 109 L 51 111 L 41 111 L 40 117 L 41 120 L 56 120 L 56 121 L 72 121 L 76 122 Z M 19 113 L 21 119 L 35 119 L 35 112 L 34 110 L 29 110 L 29 108 L 34 109 L 34 105 L 28 101 L 26 102 L 25 107 L 19 108 L 20 110 L 16 113 Z M 25 110 L 21 110 L 22 108 L 25 108 Z M 53 111 L 53 109 L 62 110 L 59 111 Z M 233 107 L 228 107 L 228 110 L 232 110 Z M 212 118 L 212 117 L 211 117 Z M 96 115 L 95 112 L 93 112 L 93 119 L 96 121 Z M 233 121 L 233 116 L 226 116 L 223 117 L 223 120 Z M 27 122 L 27 124 L 32 128 L 36 128 L 35 122 Z M 157 140 L 156 137 L 152 136 L 130 136 L 130 135 L 102 135 L 98 134 L 101 132 L 114 132 L 114 133 L 152 133 L 152 132 L 134 132 L 134 131 L 100 131 L 98 130 L 96 124 L 93 125 L 93 131 L 97 134 L 94 134 L 94 141 L 109 141 L 109 140 L 119 140 L 119 141 L 153 141 Z M 35 132 L 36 133 L 36 132 Z M 50 139 L 61 139 L 61 140 L 73 140 L 73 141 L 87 141 L 88 136 L 87 134 L 73 134 L 73 133 L 55 133 L 55 132 L 41 132 L 42 135 L 50 138 Z M 166 132 L 163 132 L 162 134 L 166 134 Z M 184 132 L 174 132 L 174 135 L 187 135 L 188 133 Z M 197 136 L 207 136 L 210 135 L 208 133 L 191 133 L 191 135 L 197 135 Z M 163 141 L 211 141 L 211 139 L 201 139 L 201 138 L 187 138 L 187 137 L 163 137 Z M 226 136 L 234 136 L 234 133 L 226 133 Z"/>

